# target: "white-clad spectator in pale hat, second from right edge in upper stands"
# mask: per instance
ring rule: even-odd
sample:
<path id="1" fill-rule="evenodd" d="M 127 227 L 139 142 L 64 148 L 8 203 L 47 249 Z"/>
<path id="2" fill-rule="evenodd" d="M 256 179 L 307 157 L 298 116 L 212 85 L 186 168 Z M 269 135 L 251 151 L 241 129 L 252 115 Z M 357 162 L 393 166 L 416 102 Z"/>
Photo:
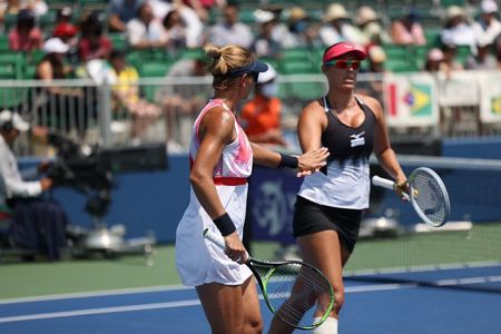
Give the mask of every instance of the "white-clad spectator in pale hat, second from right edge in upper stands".
<path id="1" fill-rule="evenodd" d="M 450 6 L 446 9 L 445 26 L 440 33 L 440 41 L 448 46 L 469 46 L 475 50 L 475 35 L 466 22 L 464 10 L 459 6 Z"/>

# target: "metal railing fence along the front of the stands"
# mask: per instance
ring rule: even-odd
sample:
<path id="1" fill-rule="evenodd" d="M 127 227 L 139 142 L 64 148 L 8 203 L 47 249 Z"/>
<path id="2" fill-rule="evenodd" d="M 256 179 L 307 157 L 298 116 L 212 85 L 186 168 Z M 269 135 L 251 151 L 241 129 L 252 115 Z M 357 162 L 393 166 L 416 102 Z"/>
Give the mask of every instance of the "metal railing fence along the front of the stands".
<path id="1" fill-rule="evenodd" d="M 282 125 L 292 145 L 297 116 L 312 99 L 326 92 L 323 75 L 281 76 Z M 145 78 L 128 87 L 97 85 L 88 79 L 0 80 L 0 108 L 20 112 L 32 128 L 56 131 L 77 143 L 128 146 L 166 143 L 185 151 L 191 124 L 212 95 L 210 77 Z M 358 92 L 383 104 L 382 76 L 361 73 Z M 501 135 L 501 124 L 483 125 L 480 106 L 440 107 L 440 122 L 431 127 L 392 127 L 392 140 Z M 36 132 L 36 131 L 33 131 Z M 51 155 L 33 134 L 18 141 L 20 155 Z"/>

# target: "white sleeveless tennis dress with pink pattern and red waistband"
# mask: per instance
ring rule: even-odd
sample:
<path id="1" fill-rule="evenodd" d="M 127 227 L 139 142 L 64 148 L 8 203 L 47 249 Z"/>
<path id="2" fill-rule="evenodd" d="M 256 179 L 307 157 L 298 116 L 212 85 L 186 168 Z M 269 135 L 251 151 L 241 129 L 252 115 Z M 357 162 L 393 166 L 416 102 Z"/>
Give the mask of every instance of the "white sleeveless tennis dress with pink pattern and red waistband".
<path id="1" fill-rule="evenodd" d="M 209 100 L 200 111 L 191 130 L 190 167 L 202 144 L 198 136 L 202 119 L 215 107 L 223 107 L 230 111 L 220 99 Z M 247 206 L 247 177 L 250 176 L 253 168 L 253 151 L 236 118 L 235 131 L 236 139 L 223 149 L 222 157 L 214 168 L 213 178 L 220 203 L 232 217 L 236 232 L 242 238 Z M 247 266 L 230 261 L 223 249 L 203 238 L 202 233 L 205 228 L 219 234 L 190 188 L 188 207 L 176 229 L 176 265 L 181 282 L 189 286 L 214 282 L 225 285 L 243 284 L 252 276 L 250 271 Z"/>

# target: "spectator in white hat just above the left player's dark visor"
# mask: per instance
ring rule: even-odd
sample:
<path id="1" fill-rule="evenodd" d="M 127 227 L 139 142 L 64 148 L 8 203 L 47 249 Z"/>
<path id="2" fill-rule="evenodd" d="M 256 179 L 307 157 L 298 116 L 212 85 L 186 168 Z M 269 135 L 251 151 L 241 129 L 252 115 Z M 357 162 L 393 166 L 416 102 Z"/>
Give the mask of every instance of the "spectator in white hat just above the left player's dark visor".
<path id="1" fill-rule="evenodd" d="M 276 17 L 272 11 L 257 9 L 254 11 L 259 31 L 250 46 L 250 52 L 257 58 L 278 60 L 282 56 L 282 46 L 273 37 L 273 29 L 276 26 Z"/>

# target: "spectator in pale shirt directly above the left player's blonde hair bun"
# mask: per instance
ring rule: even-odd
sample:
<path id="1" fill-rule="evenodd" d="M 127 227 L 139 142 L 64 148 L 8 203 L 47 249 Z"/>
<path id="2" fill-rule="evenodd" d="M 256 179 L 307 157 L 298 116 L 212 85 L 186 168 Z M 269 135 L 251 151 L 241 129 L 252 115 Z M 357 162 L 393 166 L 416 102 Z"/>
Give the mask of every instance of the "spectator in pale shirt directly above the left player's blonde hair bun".
<path id="1" fill-rule="evenodd" d="M 249 48 L 254 40 L 250 28 L 239 21 L 238 4 L 227 3 L 223 9 L 223 21 L 209 28 L 207 41 L 218 46 Z"/>

